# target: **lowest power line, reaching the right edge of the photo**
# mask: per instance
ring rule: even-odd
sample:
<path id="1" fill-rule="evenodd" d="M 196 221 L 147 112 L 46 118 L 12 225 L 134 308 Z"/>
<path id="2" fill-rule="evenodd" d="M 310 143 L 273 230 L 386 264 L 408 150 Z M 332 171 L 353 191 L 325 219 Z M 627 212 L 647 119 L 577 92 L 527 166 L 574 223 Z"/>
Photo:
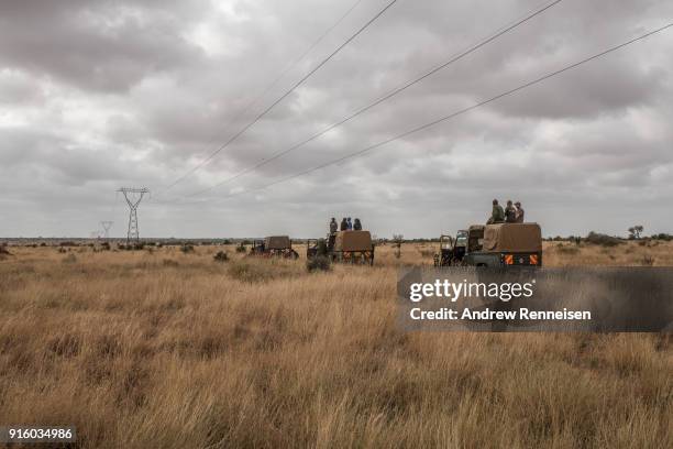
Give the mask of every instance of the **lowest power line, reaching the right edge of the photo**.
<path id="1" fill-rule="evenodd" d="M 536 78 L 536 79 L 533 79 L 531 81 L 522 84 L 522 85 L 520 85 L 518 87 L 515 87 L 512 89 L 506 90 L 506 91 L 504 91 L 501 94 L 498 94 L 498 95 L 496 95 L 494 97 L 488 98 L 487 100 L 479 101 L 479 102 L 477 102 L 475 105 L 472 105 L 472 106 L 470 106 L 467 108 L 457 110 L 455 112 L 452 112 L 452 113 L 450 113 L 448 116 L 441 117 L 441 118 L 439 118 L 437 120 L 433 120 L 433 121 L 428 122 L 426 124 L 422 124 L 420 127 L 417 127 L 417 128 L 413 128 L 411 130 L 405 131 L 401 134 L 397 134 L 397 135 L 395 135 L 395 136 L 393 136 L 390 139 L 387 139 L 385 141 L 382 141 L 382 142 L 375 143 L 373 145 L 366 146 L 366 147 L 364 147 L 362 150 L 358 150 L 356 152 L 349 153 L 345 156 L 342 156 L 342 157 L 339 157 L 339 158 L 335 158 L 335 160 L 331 160 L 331 161 L 326 162 L 323 164 L 317 165 L 317 166 L 315 166 L 312 168 L 308 168 L 308 169 L 306 169 L 304 172 L 299 172 L 299 173 L 296 173 L 294 175 L 286 176 L 284 178 L 277 179 L 277 180 L 275 180 L 273 183 L 268 183 L 268 184 L 265 184 L 263 186 L 255 187 L 255 188 L 250 188 L 250 189 L 241 190 L 241 191 L 238 191 L 238 193 L 234 193 L 234 194 L 230 194 L 230 195 L 227 195 L 227 196 L 223 196 L 223 197 L 220 197 L 220 198 L 222 198 L 222 199 L 224 199 L 224 198 L 232 198 L 232 197 L 235 197 L 235 196 L 249 194 L 251 191 L 263 190 L 263 189 L 266 189 L 268 187 L 272 187 L 272 186 L 275 186 L 275 185 L 278 185 L 278 184 L 282 184 L 282 183 L 286 183 L 286 182 L 288 182 L 290 179 L 295 179 L 297 177 L 300 177 L 300 176 L 304 176 L 304 175 L 308 175 L 309 173 L 316 172 L 318 169 L 326 168 L 326 167 L 328 167 L 330 165 L 339 164 L 339 163 L 341 163 L 343 161 L 346 161 L 349 158 L 360 157 L 360 156 L 362 156 L 362 155 L 364 155 L 364 154 L 366 154 L 366 153 L 368 153 L 368 152 L 371 152 L 373 150 L 376 150 L 376 149 L 378 149 L 380 146 L 384 146 L 384 145 L 386 145 L 388 143 L 391 143 L 391 142 L 400 140 L 400 139 L 404 139 L 404 138 L 406 138 L 408 135 L 415 134 L 415 133 L 417 133 L 419 131 L 422 131 L 422 130 L 426 130 L 428 128 L 434 127 L 435 124 L 439 124 L 441 122 L 454 119 L 454 118 L 456 118 L 459 116 L 462 116 L 464 113 L 467 113 L 467 112 L 470 112 L 470 111 L 472 111 L 474 109 L 477 109 L 477 108 L 481 108 L 481 107 L 486 106 L 488 103 L 492 103 L 494 101 L 497 101 L 497 100 L 499 100 L 499 99 L 501 99 L 504 97 L 508 97 L 508 96 L 510 96 L 512 94 L 516 94 L 518 91 L 525 90 L 525 89 L 527 89 L 527 88 L 529 88 L 531 86 L 534 86 L 534 85 L 538 85 L 540 83 L 543 83 L 544 80 L 547 80 L 549 78 L 552 78 L 552 77 L 561 75 L 561 74 L 563 74 L 565 72 L 572 70 L 572 69 L 574 69 L 574 68 L 576 68 L 576 67 L 578 67 L 581 65 L 584 65 L 584 64 L 589 63 L 589 62 L 592 62 L 594 59 L 600 58 L 600 57 L 603 57 L 603 56 L 605 56 L 605 55 L 607 55 L 609 53 L 616 52 L 616 51 L 618 51 L 620 48 L 624 48 L 624 47 L 626 47 L 628 45 L 631 45 L 631 44 L 633 44 L 633 43 L 636 43 L 638 41 L 642 41 L 646 37 L 649 37 L 649 36 L 653 35 L 653 34 L 660 33 L 660 32 L 662 32 L 664 30 L 668 30 L 668 29 L 670 29 L 672 26 L 673 26 L 673 22 L 669 23 L 669 24 L 666 24 L 664 26 L 661 26 L 659 29 L 655 29 L 653 31 L 650 31 L 648 33 L 641 34 L 638 37 L 633 37 L 630 41 L 627 41 L 627 42 L 625 42 L 622 44 L 619 44 L 619 45 L 616 45 L 616 46 L 610 47 L 608 50 L 605 50 L 605 51 L 603 51 L 600 53 L 597 53 L 597 54 L 595 54 L 593 56 L 586 57 L 586 58 L 584 58 L 582 61 L 578 61 L 578 62 L 576 62 L 574 64 L 565 66 L 565 67 L 563 67 L 561 69 L 558 69 L 558 70 L 554 70 L 554 72 L 549 73 L 547 75 L 543 75 L 543 76 L 541 76 L 539 78 Z"/>

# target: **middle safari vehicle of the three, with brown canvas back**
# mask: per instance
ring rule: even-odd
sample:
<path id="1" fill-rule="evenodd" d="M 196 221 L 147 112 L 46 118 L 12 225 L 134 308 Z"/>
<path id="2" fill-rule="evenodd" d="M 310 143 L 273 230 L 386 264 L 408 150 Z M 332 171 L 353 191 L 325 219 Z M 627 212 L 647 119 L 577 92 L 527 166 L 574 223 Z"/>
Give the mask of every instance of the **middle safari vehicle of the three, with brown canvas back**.
<path id="1" fill-rule="evenodd" d="M 324 240 L 310 239 L 306 256 L 312 259 L 324 253 L 332 262 L 374 265 L 374 243 L 369 231 L 340 231 Z"/>

